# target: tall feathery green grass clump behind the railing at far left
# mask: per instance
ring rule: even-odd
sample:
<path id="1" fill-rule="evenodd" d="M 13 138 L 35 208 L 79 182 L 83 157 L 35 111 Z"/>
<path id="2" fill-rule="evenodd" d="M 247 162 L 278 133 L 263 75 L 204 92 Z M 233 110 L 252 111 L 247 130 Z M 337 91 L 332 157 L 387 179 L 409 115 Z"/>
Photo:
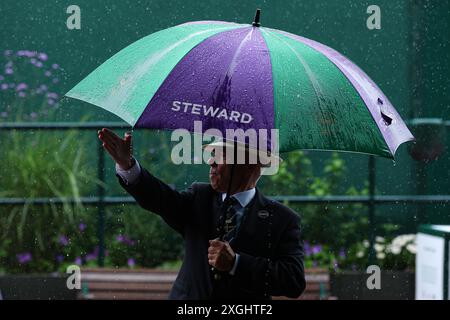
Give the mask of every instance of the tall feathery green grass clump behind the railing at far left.
<path id="1" fill-rule="evenodd" d="M 86 154 L 78 141 L 74 131 L 64 135 L 12 131 L 3 136 L 7 152 L 1 160 L 7 169 L 1 173 L 2 196 L 29 200 L 23 206 L 0 207 L 0 252 L 6 253 L 0 255 L 0 264 L 6 270 L 54 271 L 58 260 L 72 253 L 60 238 L 70 243 L 78 236 L 81 221 L 92 223 L 80 196 L 95 186 L 95 175 L 82 167 Z M 30 203 L 40 197 L 56 198 L 62 205 Z"/>

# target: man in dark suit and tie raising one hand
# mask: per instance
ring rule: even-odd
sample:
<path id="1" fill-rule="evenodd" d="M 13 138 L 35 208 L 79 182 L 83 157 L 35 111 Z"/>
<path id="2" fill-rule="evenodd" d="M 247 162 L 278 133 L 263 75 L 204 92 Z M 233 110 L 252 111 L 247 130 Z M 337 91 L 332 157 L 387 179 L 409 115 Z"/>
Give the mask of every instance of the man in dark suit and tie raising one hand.
<path id="1" fill-rule="evenodd" d="M 262 166 L 231 165 L 223 151 L 212 157 L 210 183 L 178 192 L 139 165 L 131 135 L 98 132 L 116 162 L 120 184 L 138 204 L 160 215 L 185 241 L 185 258 L 170 299 L 297 298 L 305 289 L 299 218 L 256 188 Z M 226 204 L 223 201 L 226 199 Z M 225 206 L 225 207 L 222 207 Z M 225 210 L 223 210 L 225 208 Z M 221 226 L 225 236 L 220 240 Z"/>

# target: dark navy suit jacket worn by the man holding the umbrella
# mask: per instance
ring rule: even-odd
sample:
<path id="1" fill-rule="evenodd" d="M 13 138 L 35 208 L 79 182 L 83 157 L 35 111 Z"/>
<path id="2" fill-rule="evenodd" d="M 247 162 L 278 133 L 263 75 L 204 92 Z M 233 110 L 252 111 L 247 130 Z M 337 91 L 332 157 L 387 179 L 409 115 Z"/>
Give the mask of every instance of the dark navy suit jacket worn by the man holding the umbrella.
<path id="1" fill-rule="evenodd" d="M 240 254 L 234 275 L 211 276 L 208 240 L 217 234 L 220 194 L 210 184 L 193 183 L 178 192 L 142 168 L 137 182 L 120 184 L 144 209 L 160 215 L 185 240 L 185 258 L 170 299 L 297 298 L 305 289 L 299 218 L 258 189 L 230 242 Z"/>

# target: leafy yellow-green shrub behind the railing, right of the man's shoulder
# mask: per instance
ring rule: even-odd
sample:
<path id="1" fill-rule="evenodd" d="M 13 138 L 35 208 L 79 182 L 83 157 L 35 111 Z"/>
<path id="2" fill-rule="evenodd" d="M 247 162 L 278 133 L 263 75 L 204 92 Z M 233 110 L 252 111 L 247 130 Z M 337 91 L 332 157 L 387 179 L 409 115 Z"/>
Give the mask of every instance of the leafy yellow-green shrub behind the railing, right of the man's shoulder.
<path id="1" fill-rule="evenodd" d="M 284 195 L 327 196 L 339 193 L 347 174 L 345 162 L 334 152 L 319 175 L 304 151 L 291 152 L 281 163 L 279 174 L 269 177 L 265 193 Z M 345 195 L 367 194 L 367 189 L 350 187 Z M 362 241 L 367 235 L 367 216 L 361 204 L 307 204 L 285 203 L 300 214 L 303 237 L 312 245 L 321 244 L 334 251 Z"/>

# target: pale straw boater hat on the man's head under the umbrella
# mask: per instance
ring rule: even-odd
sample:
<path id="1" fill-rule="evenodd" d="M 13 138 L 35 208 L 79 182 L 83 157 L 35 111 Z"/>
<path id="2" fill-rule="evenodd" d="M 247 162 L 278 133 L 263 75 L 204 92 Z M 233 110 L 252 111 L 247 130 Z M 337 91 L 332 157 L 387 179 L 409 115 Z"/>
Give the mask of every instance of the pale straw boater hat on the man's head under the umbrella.
<path id="1" fill-rule="evenodd" d="M 250 147 L 247 144 L 238 141 L 216 141 L 213 143 L 203 145 L 203 149 L 211 152 L 213 149 L 220 148 L 223 150 L 234 150 L 235 146 L 237 146 L 238 154 L 240 152 L 248 153 L 250 159 L 257 159 L 258 162 L 262 164 L 262 167 L 270 167 L 273 164 L 278 165 L 283 159 L 277 154 L 274 154 L 267 150 L 258 150 L 256 148 Z M 252 157 L 253 156 L 253 157 Z M 239 158 L 237 158 L 239 161 Z"/>

